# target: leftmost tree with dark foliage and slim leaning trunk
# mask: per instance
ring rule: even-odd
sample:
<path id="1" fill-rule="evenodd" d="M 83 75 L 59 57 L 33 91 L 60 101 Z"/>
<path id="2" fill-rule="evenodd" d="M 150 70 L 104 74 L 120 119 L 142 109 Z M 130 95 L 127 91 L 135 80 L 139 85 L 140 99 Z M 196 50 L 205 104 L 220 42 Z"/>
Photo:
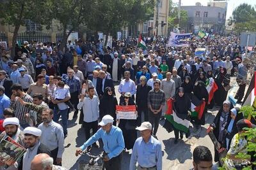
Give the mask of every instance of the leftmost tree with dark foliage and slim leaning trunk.
<path id="1" fill-rule="evenodd" d="M 48 7 L 48 0 L 10 0 L 1 3 L 1 24 L 9 24 L 14 26 L 11 46 L 12 56 L 15 55 L 15 45 L 20 25 L 25 25 L 25 20 L 31 20 L 37 24 L 46 24 L 49 22 L 49 18 L 45 17 L 44 14 Z"/>

